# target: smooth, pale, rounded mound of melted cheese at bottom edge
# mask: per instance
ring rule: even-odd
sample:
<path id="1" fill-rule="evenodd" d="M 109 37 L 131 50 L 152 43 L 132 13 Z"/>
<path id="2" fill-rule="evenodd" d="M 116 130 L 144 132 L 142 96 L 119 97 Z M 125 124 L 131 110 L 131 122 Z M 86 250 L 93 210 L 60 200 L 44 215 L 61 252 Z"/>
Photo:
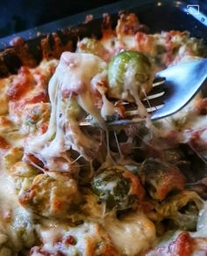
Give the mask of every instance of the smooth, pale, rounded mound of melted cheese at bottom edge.
<path id="1" fill-rule="evenodd" d="M 125 216 L 123 220 L 108 217 L 105 229 L 118 251 L 124 255 L 132 256 L 146 251 L 155 239 L 155 227 L 142 213 Z"/>

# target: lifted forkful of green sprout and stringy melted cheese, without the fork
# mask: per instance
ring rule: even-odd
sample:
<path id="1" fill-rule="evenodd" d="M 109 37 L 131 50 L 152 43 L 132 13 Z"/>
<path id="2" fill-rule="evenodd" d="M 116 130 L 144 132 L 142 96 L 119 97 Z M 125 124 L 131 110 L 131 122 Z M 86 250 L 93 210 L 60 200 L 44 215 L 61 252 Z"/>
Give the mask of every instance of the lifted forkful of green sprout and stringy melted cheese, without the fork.
<path id="1" fill-rule="evenodd" d="M 81 122 L 90 115 L 92 122 L 107 130 L 107 121 L 125 118 L 123 105 L 113 104 L 111 98 L 136 102 L 140 118 L 146 118 L 146 108 L 139 97 L 150 91 L 152 74 L 151 62 L 136 51 L 119 53 L 109 66 L 96 55 L 64 52 L 49 82 L 51 116 L 48 129 L 44 135 L 28 138 L 26 155 L 39 158 L 46 168 L 54 171 L 57 168 L 55 157 L 61 156 L 72 165 L 73 160 L 69 161 L 66 156 L 70 149 L 88 161 L 94 159 L 99 149 L 98 140 L 80 128 Z M 68 169 L 68 165 L 64 168 Z"/>

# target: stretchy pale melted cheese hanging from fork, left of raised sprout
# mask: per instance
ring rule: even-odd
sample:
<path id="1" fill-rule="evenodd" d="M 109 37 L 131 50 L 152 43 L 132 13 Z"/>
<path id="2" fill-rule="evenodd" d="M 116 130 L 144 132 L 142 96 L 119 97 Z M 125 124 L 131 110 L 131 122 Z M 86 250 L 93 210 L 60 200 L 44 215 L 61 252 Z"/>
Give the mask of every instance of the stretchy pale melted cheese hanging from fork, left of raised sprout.
<path id="1" fill-rule="evenodd" d="M 89 113 L 94 120 L 106 129 L 104 116 L 114 112 L 113 106 L 104 93 L 103 106 L 96 106 L 96 84 L 106 75 L 106 63 L 96 55 L 65 52 L 61 55 L 54 77 L 49 82 L 49 97 L 52 106 L 49 127 L 46 134 L 32 137 L 25 144 L 27 154 L 38 157 L 50 171 L 57 171 L 62 166 L 71 169 L 72 161 L 66 150 L 76 150 L 87 160 L 93 159 L 98 150 L 98 143 L 82 133 L 79 122 L 71 118 L 68 111 L 71 98 L 75 99 L 82 110 Z M 64 165 L 57 167 L 55 157 L 65 159 Z"/>

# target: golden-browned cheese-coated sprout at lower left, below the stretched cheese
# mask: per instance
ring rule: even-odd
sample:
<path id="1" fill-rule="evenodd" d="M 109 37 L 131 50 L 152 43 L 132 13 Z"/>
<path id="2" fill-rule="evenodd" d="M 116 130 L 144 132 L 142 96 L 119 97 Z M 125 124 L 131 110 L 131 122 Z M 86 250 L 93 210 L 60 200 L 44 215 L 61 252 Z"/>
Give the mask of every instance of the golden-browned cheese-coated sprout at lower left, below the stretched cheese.
<path id="1" fill-rule="evenodd" d="M 39 174 L 32 179 L 30 187 L 18 195 L 20 204 L 39 216 L 67 218 L 77 209 L 80 197 L 74 179 L 59 172 Z"/>

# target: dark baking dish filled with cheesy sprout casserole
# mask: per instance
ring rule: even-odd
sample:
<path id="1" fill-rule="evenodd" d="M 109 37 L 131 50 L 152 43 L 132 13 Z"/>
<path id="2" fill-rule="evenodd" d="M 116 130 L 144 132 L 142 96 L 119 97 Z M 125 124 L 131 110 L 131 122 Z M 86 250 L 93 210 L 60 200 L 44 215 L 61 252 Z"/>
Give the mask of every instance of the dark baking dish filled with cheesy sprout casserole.
<path id="1" fill-rule="evenodd" d="M 204 39 L 205 6 L 200 13 L 196 7 L 124 1 L 89 11 L 84 24 L 86 13 L 1 40 L 3 255 L 207 252 L 206 99 L 198 95 L 170 119 L 152 123 L 140 113 L 143 123 L 107 128 L 108 118 L 125 115 L 125 101 L 139 102 L 134 84 L 152 86 L 154 62 L 176 64 L 183 48 L 192 58 L 204 56 L 194 54 L 200 40 L 179 32 Z M 134 14 L 118 15 L 122 9 L 144 26 Z M 104 12 L 111 18 L 101 18 Z M 116 48 L 123 31 L 135 43 L 155 41 L 155 54 L 140 42 L 128 47 L 127 36 Z M 95 126 L 82 128 L 88 114 Z"/>

